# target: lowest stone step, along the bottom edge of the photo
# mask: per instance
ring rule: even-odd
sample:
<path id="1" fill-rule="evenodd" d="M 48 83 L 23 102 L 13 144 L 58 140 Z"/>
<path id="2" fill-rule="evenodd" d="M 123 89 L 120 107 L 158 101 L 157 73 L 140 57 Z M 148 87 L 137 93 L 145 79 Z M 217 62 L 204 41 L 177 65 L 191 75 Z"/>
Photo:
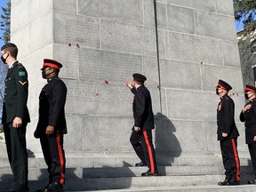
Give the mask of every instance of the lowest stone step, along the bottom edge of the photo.
<path id="1" fill-rule="evenodd" d="M 87 190 L 104 190 L 113 191 L 113 189 L 123 189 L 123 191 L 142 191 L 142 188 L 148 188 L 146 191 L 247 191 L 243 189 L 251 186 L 236 187 L 219 187 L 217 183 L 223 180 L 223 175 L 197 175 L 197 176 L 159 176 L 159 177 L 125 177 L 125 178 L 85 178 L 85 179 L 69 179 L 66 180 L 65 191 L 87 191 Z M 250 175 L 244 175 L 241 184 L 244 185 L 246 180 L 252 179 Z M 36 188 L 43 188 L 47 180 L 29 180 L 31 191 Z M 212 186 L 211 188 L 207 186 Z M 204 186 L 204 188 L 201 188 Z M 12 181 L 0 181 L 0 190 L 6 190 L 12 187 Z M 175 188 L 176 187 L 176 188 Z M 186 188 L 185 188 L 186 187 Z M 153 189 L 150 189 L 153 188 Z M 200 189 L 201 188 L 201 189 Z M 220 189 L 221 190 L 220 190 Z M 240 190 L 235 190 L 240 188 Z M 253 186 L 254 190 L 256 186 Z M 173 190 L 171 190 L 173 189 Z M 209 191 L 208 191 L 209 189 Z M 224 189 L 224 190 L 222 190 Z M 243 189 L 243 190 L 242 190 Z M 116 191 L 116 190 L 115 190 Z M 120 190 L 121 191 L 121 190 Z"/>

